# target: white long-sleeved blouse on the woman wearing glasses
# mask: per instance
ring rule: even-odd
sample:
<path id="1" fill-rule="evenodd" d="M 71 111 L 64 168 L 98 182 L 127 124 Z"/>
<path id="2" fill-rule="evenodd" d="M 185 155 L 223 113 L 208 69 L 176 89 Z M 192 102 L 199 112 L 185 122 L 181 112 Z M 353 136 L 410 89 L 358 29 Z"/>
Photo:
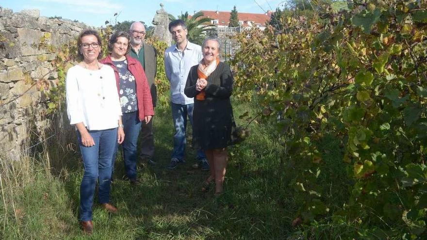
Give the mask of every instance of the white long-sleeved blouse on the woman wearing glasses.
<path id="1" fill-rule="evenodd" d="M 68 69 L 66 104 L 70 124 L 83 123 L 88 130 L 118 127 L 122 115 L 113 68 L 89 70 L 80 65 Z"/>

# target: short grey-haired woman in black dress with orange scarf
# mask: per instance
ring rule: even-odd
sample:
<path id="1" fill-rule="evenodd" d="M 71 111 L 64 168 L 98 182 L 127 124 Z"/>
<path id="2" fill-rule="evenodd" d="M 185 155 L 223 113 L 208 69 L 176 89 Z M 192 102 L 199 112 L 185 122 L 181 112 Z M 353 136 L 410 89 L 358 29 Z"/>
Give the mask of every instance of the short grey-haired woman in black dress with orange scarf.
<path id="1" fill-rule="evenodd" d="M 227 167 L 227 146 L 235 128 L 230 102 L 233 77 L 230 66 L 219 61 L 218 39 L 205 39 L 202 53 L 203 59 L 190 69 L 184 93 L 195 98 L 193 141 L 205 151 L 211 171 L 205 184 L 215 180 L 215 194 L 220 194 Z"/>

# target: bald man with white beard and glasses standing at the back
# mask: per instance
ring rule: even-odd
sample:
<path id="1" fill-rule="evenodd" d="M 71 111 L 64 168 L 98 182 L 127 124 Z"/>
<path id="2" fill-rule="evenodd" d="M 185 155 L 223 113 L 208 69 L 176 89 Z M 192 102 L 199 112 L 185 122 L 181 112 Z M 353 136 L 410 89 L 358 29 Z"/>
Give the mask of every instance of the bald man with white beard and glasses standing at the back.
<path id="1" fill-rule="evenodd" d="M 153 100 L 153 107 L 156 106 L 157 101 L 157 88 L 154 82 L 157 73 L 157 51 L 152 46 L 148 45 L 144 39 L 146 30 L 144 24 L 141 22 L 133 22 L 129 29 L 131 35 L 131 50 L 128 54 L 131 57 L 139 60 L 144 68 L 148 80 L 148 86 L 151 91 L 151 98 Z M 153 134 L 153 121 L 142 122 L 141 125 L 141 153 L 140 158 L 147 161 L 149 164 L 154 165 L 154 134 Z"/>

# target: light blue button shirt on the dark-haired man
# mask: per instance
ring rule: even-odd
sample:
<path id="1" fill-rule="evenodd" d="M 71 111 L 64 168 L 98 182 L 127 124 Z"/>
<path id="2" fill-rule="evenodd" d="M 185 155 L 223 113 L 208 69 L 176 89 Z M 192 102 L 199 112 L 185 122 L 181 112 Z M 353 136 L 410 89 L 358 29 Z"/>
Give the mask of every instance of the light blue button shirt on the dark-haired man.
<path id="1" fill-rule="evenodd" d="M 197 65 L 202 58 L 202 48 L 190 42 L 187 42 L 184 51 L 173 45 L 164 52 L 164 68 L 170 82 L 170 100 L 173 103 L 194 103 L 193 98 L 185 96 L 184 88 L 190 68 Z"/>

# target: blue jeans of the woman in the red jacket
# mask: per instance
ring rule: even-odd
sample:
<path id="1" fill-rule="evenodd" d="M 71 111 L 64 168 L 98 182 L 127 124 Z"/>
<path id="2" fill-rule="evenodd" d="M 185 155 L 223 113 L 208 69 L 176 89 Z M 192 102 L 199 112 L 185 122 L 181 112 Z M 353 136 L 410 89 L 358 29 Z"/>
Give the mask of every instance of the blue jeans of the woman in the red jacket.
<path id="1" fill-rule="evenodd" d="M 123 113 L 122 116 L 122 122 L 125 126 L 123 129 L 125 132 L 125 140 L 122 143 L 123 161 L 125 163 L 126 175 L 129 179 L 136 179 L 136 145 L 138 143 L 139 131 L 141 129 L 141 122 L 139 121 L 138 115 L 138 111 L 135 111 Z M 118 144 L 116 144 L 113 155 L 112 175 L 114 172 L 117 147 Z"/>

